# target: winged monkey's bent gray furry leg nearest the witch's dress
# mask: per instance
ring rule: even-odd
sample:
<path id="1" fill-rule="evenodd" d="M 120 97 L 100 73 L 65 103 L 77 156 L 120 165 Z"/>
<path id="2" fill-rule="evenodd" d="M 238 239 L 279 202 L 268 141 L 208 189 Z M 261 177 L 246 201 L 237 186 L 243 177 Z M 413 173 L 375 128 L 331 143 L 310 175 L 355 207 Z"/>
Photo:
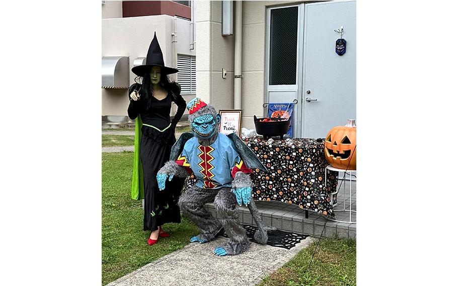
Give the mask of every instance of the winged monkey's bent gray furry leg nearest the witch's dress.
<path id="1" fill-rule="evenodd" d="M 215 195 L 214 190 L 204 190 L 192 186 L 180 196 L 178 205 L 183 215 L 196 224 L 201 231 L 201 234 L 193 237 L 191 242 L 209 242 L 222 229 L 221 223 L 204 208 L 204 204 L 213 201 Z"/>

